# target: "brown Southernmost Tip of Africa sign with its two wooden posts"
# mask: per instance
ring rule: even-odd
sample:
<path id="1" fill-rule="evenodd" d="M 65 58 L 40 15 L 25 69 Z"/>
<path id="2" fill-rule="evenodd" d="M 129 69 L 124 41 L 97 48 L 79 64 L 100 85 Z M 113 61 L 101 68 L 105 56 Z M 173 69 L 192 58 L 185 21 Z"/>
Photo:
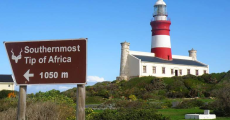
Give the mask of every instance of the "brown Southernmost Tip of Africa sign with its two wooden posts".
<path id="1" fill-rule="evenodd" d="M 87 38 L 4 42 L 19 89 L 18 120 L 25 120 L 27 85 L 77 84 L 77 119 L 85 120 Z"/>

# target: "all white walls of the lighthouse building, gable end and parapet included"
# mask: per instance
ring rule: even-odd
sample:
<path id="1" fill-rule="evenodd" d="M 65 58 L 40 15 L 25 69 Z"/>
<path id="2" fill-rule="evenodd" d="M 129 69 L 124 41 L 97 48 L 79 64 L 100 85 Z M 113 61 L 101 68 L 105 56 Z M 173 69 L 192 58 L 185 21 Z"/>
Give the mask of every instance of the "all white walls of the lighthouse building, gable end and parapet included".
<path id="1" fill-rule="evenodd" d="M 178 70 L 178 76 L 187 75 L 187 69 L 190 69 L 190 74 L 196 75 L 196 70 L 199 71 L 199 75 L 209 73 L 209 67 L 200 67 L 200 66 L 188 66 L 188 65 L 175 65 L 175 64 L 160 64 L 152 62 L 142 62 L 133 55 L 142 55 L 142 56 L 151 56 L 154 57 L 154 53 L 148 52 L 139 52 L 139 51 L 130 51 L 129 52 L 129 76 L 156 76 L 156 77 L 173 77 L 175 76 L 175 70 Z M 172 55 L 174 59 L 184 59 L 192 60 L 192 57 L 189 56 L 180 56 Z M 197 61 L 199 62 L 199 61 Z M 201 63 L 201 62 L 200 62 Z M 202 63 L 203 64 L 203 63 Z M 147 72 L 143 73 L 143 66 L 147 67 Z M 156 66 L 156 74 L 153 74 L 152 66 Z M 162 74 L 162 67 L 165 67 L 165 74 Z M 173 69 L 173 75 L 171 74 L 171 69 Z M 180 69 L 182 69 L 182 75 L 180 75 Z"/>

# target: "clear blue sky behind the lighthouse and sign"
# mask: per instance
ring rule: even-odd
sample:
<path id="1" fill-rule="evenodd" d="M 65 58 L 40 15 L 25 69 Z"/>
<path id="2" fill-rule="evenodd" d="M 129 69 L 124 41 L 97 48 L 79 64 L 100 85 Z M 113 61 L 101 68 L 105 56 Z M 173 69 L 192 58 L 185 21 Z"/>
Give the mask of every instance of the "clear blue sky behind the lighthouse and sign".
<path id="1" fill-rule="evenodd" d="M 130 42 L 130 50 L 150 52 L 156 1 L 0 0 L 0 74 L 12 74 L 3 41 L 88 38 L 88 85 L 113 81 L 119 76 L 121 42 Z M 172 22 L 172 54 L 188 56 L 194 48 L 210 73 L 230 70 L 230 1 L 164 1 Z M 27 93 L 72 87 L 30 85 Z"/>

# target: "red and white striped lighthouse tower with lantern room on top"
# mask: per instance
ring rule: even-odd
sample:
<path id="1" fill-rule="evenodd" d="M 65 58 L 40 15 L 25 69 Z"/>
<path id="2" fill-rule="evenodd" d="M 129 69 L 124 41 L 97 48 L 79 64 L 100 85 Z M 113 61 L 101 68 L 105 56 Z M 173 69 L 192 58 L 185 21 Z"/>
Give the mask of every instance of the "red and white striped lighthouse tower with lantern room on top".
<path id="1" fill-rule="evenodd" d="M 171 21 L 167 19 L 167 7 L 163 0 L 158 0 L 154 5 L 154 20 L 151 21 L 152 27 L 152 48 L 151 52 L 155 57 L 172 60 L 170 25 Z"/>

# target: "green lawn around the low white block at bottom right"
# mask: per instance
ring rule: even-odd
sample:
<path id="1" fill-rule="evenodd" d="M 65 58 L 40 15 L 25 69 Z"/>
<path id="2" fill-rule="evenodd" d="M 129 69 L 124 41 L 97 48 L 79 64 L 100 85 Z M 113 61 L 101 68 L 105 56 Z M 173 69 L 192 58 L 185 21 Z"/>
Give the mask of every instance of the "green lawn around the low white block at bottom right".
<path id="1" fill-rule="evenodd" d="M 184 116 L 185 114 L 203 114 L 204 110 L 200 109 L 159 109 L 158 113 L 168 116 L 171 118 L 171 120 L 185 120 Z M 227 117 L 217 117 L 216 120 L 230 120 L 230 118 Z"/>

